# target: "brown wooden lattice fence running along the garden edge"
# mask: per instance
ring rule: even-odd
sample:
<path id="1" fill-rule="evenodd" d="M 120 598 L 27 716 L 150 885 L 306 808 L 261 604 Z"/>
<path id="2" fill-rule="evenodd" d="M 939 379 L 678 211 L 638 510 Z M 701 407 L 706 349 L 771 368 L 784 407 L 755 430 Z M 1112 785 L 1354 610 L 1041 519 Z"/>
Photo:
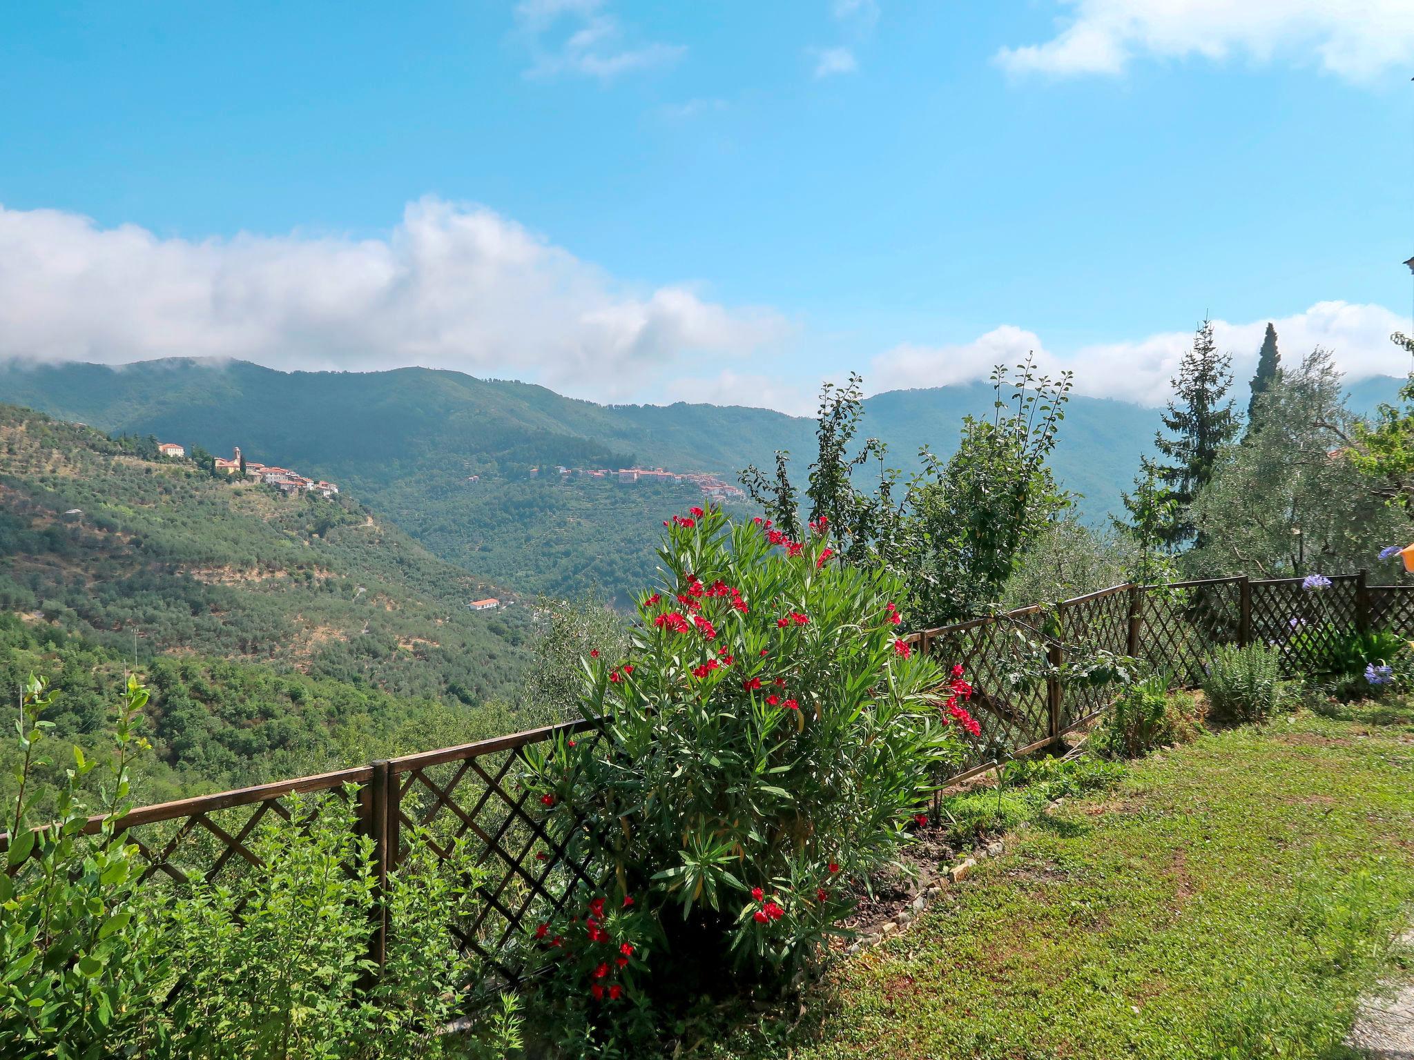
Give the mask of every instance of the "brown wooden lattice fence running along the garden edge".
<path id="1" fill-rule="evenodd" d="M 1319 671 L 1340 637 L 1362 630 L 1414 637 L 1414 585 L 1366 584 L 1365 574 L 1333 577 L 1321 589 L 1302 579 L 1215 578 L 1172 585 L 1117 585 L 1053 606 L 1032 606 L 911 635 L 919 650 L 960 663 L 976 688 L 970 707 L 983 726 L 977 758 L 959 777 L 1003 756 L 1049 748 L 1083 728 L 1109 705 L 1113 688 L 1069 683 L 1068 659 L 1096 650 L 1131 656 L 1188 684 L 1202 681 L 1212 650 L 1223 643 L 1264 642 L 1278 647 L 1288 673 Z M 1039 669 L 1048 671 L 1034 680 Z M 530 729 L 496 739 L 375 762 L 318 776 L 280 780 L 235 791 L 132 810 L 129 840 L 139 845 L 151 886 L 185 888 L 194 881 L 236 879 L 257 864 L 252 835 L 276 818 L 288 821 L 291 800 L 355 807 L 359 830 L 372 838 L 375 875 L 386 881 L 407 852 L 409 837 L 441 855 L 452 838 L 474 844 L 488 882 L 477 916 L 457 924 L 468 948 L 510 975 L 506 947 L 530 917 L 559 910 L 580 883 L 595 886 L 591 866 L 557 845 L 527 807 L 518 783 L 526 748 L 559 734 L 597 739 L 591 722 Z M 98 831 L 99 821 L 89 823 Z M 8 837 L 0 834 L 0 851 Z M 18 871 L 23 871 L 18 869 Z M 375 958 L 389 931 L 379 924 Z"/>

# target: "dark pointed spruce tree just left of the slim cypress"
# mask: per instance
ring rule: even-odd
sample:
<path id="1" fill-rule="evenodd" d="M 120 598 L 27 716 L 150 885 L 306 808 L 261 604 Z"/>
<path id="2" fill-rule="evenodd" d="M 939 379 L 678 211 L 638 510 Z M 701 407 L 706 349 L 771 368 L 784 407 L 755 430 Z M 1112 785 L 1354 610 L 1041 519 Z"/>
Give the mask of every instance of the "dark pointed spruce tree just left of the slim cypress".
<path id="1" fill-rule="evenodd" d="M 1225 400 L 1233 383 L 1232 358 L 1217 352 L 1212 321 L 1198 326 L 1193 348 L 1184 355 L 1178 377 L 1171 383 L 1174 397 L 1162 414 L 1168 434 L 1157 431 L 1154 435 L 1154 447 L 1167 461 L 1141 458 L 1140 478 L 1152 475 L 1162 489 L 1162 500 L 1171 502 L 1157 534 L 1167 547 L 1178 550 L 1195 537 L 1189 513 L 1193 497 L 1213 476 L 1222 448 L 1240 427 L 1232 400 Z M 1141 496 L 1126 493 L 1124 506 L 1131 523 L 1144 514 Z"/>

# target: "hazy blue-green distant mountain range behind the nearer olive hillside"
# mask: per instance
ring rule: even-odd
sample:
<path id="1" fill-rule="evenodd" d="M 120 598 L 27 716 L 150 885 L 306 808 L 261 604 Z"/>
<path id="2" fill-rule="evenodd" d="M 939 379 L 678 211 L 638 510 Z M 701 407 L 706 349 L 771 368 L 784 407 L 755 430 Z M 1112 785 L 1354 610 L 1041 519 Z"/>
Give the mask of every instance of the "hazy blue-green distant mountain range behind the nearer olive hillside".
<path id="1" fill-rule="evenodd" d="M 1352 408 L 1389 400 L 1398 380 L 1362 380 Z M 246 362 L 148 360 L 123 367 L 0 366 L 3 400 L 109 432 L 298 466 L 339 482 L 433 553 L 520 591 L 622 592 L 653 565 L 653 527 L 691 503 L 686 485 L 618 485 L 557 475 L 556 465 L 708 471 L 734 481 L 789 449 L 803 478 L 814 421 L 711 404 L 601 406 L 542 386 L 458 372 L 277 372 Z M 1244 400 L 1246 394 L 1241 396 Z M 864 432 L 892 464 L 918 466 L 928 445 L 950 454 L 967 413 L 991 411 L 986 383 L 892 390 L 864 403 Z M 1072 397 L 1052 465 L 1083 495 L 1082 517 L 1120 507 L 1150 451 L 1158 410 Z M 477 482 L 468 482 L 478 476 Z"/>

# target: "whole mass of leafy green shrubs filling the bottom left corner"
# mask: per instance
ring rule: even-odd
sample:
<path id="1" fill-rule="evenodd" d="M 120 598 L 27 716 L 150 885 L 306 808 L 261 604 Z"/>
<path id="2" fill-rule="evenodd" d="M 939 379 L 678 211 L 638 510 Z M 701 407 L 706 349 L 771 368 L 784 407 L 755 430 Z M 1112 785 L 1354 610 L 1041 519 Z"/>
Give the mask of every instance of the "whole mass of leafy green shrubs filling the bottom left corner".
<path id="1" fill-rule="evenodd" d="M 259 864 L 229 885 L 140 886 L 144 864 L 122 821 L 129 766 L 146 750 L 133 726 L 147 693 L 130 680 L 117 709 L 93 835 L 79 799 L 93 763 L 81 750 L 57 797 L 34 790 L 48 726 L 40 715 L 52 700 L 34 678 L 21 698 L 20 794 L 7 821 L 14 875 L 0 872 L 0 1056 L 372 1060 L 519 1047 L 505 1002 L 467 1033 L 434 1033 L 481 978 L 451 931 L 484 879 L 458 844 L 436 837 L 434 847 L 414 830 L 379 897 L 346 791 L 293 800 L 288 823 L 266 817 L 247 842 Z M 37 804 L 58 806 L 58 820 L 34 830 Z M 369 960 L 379 900 L 396 926 L 382 974 Z"/>

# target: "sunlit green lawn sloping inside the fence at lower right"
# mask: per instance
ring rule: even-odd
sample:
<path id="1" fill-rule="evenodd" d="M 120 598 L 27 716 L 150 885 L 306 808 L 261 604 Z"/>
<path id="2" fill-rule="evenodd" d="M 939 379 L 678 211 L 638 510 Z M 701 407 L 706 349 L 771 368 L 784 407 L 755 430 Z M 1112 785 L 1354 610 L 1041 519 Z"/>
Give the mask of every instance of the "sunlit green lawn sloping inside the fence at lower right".
<path id="1" fill-rule="evenodd" d="M 1342 1057 L 1414 899 L 1408 714 L 1302 714 L 1135 763 L 740 1059 Z M 790 1013 L 795 1018 L 795 1013 Z"/>

